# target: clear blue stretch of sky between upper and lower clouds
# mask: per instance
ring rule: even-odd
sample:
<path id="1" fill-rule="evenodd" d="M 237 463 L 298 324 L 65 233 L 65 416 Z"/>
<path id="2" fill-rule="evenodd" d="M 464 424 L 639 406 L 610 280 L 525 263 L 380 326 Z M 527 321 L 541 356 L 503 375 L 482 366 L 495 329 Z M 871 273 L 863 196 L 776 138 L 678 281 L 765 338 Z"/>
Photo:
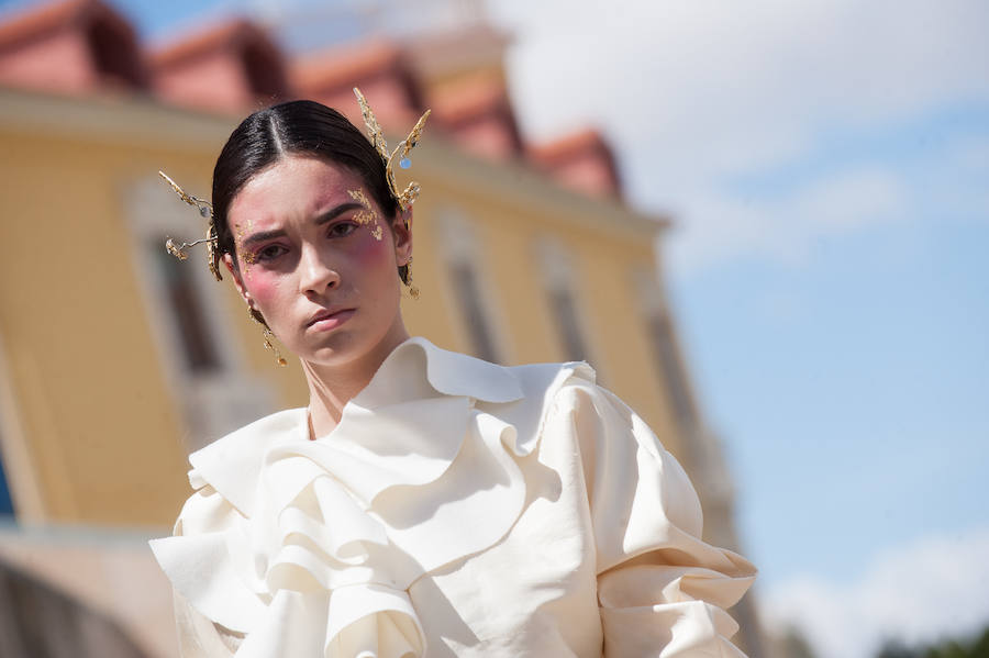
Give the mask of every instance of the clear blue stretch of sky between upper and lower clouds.
<path id="1" fill-rule="evenodd" d="M 989 158 L 940 168 L 946 145 L 987 137 L 989 107 L 970 105 L 833 132 L 725 188 L 758 203 L 866 163 L 905 182 L 902 216 L 820 237 L 796 265 L 738 257 L 675 277 L 747 543 L 771 559 L 765 587 L 859 578 L 882 548 L 989 526 L 989 214 L 965 202 L 985 196 Z"/>

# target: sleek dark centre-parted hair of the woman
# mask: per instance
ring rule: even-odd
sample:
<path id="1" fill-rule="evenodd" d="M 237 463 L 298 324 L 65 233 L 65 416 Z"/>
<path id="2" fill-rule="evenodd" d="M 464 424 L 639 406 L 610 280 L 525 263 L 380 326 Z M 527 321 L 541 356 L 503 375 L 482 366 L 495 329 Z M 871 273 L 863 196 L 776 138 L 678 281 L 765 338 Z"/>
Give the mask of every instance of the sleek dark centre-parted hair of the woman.
<path id="1" fill-rule="evenodd" d="M 226 221 L 230 204 L 256 174 L 289 154 L 312 155 L 359 176 L 385 213 L 399 210 L 385 178 L 385 163 L 367 137 L 343 114 L 315 101 L 290 101 L 259 110 L 241 122 L 213 167 L 213 225 L 221 254 L 236 263 L 236 244 Z M 399 277 L 408 282 L 408 266 Z"/>

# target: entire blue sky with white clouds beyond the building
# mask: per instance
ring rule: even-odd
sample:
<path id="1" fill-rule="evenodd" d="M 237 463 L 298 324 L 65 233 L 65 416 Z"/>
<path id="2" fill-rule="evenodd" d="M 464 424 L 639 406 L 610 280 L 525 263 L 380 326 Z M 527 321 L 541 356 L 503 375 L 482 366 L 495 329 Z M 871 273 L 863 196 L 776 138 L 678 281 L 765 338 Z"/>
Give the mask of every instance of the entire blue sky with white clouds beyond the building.
<path id="1" fill-rule="evenodd" d="M 148 37 L 247 7 L 113 4 Z M 523 132 L 600 127 L 676 223 L 768 621 L 822 658 L 989 623 L 989 4 L 487 4 Z"/>

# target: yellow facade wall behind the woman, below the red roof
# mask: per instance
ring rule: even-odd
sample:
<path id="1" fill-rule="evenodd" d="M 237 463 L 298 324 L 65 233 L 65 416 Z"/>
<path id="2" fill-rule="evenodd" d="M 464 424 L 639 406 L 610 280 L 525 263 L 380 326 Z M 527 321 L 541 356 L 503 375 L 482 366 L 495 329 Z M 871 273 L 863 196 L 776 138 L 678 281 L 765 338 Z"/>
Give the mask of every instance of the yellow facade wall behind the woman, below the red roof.
<path id="1" fill-rule="evenodd" d="M 164 250 L 166 235 L 201 226 L 157 170 L 208 197 L 235 120 L 11 89 L 0 108 L 2 436 L 18 516 L 166 525 L 188 493 L 189 449 L 307 402 L 232 286 Z M 587 358 L 685 458 L 642 311 L 662 223 L 440 138 L 414 171 L 410 331 L 504 364 Z"/>

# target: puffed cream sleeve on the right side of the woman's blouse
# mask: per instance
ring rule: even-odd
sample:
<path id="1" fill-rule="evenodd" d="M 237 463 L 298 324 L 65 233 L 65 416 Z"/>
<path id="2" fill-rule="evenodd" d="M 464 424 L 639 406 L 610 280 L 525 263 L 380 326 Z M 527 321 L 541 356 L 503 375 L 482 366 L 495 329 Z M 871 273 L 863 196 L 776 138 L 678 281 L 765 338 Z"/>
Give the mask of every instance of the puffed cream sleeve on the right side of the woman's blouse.
<path id="1" fill-rule="evenodd" d="M 687 473 L 642 419 L 591 381 L 564 387 L 556 402 L 580 446 L 604 656 L 744 658 L 725 609 L 755 568 L 701 540 Z"/>

